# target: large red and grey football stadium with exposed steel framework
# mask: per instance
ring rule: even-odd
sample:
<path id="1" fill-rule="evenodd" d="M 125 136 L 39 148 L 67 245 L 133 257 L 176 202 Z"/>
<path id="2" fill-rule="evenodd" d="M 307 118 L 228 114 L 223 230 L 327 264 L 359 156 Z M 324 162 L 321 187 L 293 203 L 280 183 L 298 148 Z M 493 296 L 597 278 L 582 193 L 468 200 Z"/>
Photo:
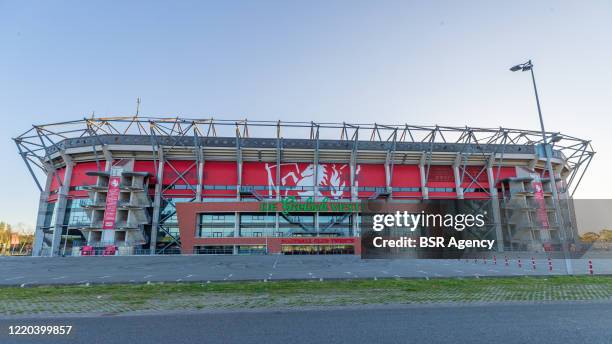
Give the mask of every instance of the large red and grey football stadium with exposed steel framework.
<path id="1" fill-rule="evenodd" d="M 36 256 L 359 254 L 369 200 L 486 201 L 497 251 L 560 245 L 560 223 L 572 240 L 573 210 L 557 220 L 552 188 L 571 200 L 595 152 L 545 137 L 136 115 L 34 125 L 14 141 L 40 190 Z"/>

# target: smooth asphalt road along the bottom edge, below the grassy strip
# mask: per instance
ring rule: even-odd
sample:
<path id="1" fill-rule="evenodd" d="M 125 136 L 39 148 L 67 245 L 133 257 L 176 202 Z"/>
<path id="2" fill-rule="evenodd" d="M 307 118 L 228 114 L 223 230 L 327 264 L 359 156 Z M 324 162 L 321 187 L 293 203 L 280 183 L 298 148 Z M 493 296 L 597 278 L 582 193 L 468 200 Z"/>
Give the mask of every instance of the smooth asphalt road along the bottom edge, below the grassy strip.
<path id="1" fill-rule="evenodd" d="M 612 343 L 612 304 L 347 307 L 0 319 L 0 343 Z M 71 325 L 66 336 L 10 336 Z"/>

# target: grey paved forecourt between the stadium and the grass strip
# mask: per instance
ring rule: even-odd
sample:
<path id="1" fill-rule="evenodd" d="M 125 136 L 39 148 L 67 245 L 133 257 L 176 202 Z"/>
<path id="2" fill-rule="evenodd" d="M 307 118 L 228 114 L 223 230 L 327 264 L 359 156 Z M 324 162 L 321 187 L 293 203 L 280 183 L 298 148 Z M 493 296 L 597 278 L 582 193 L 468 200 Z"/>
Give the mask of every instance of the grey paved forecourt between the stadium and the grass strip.
<path id="1" fill-rule="evenodd" d="M 530 257 L 361 259 L 358 256 L 114 256 L 0 257 L 0 286 L 84 283 L 197 282 L 283 279 L 439 278 L 565 274 L 562 260 Z M 576 274 L 589 273 L 586 259 L 572 260 Z M 612 274 L 612 259 L 594 259 L 595 274 Z"/>

